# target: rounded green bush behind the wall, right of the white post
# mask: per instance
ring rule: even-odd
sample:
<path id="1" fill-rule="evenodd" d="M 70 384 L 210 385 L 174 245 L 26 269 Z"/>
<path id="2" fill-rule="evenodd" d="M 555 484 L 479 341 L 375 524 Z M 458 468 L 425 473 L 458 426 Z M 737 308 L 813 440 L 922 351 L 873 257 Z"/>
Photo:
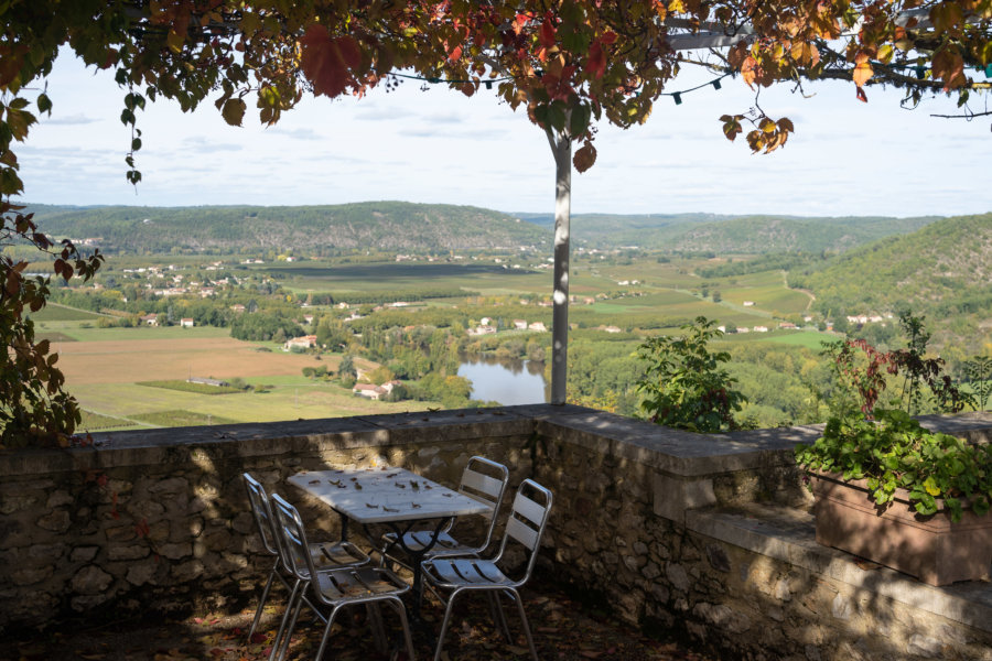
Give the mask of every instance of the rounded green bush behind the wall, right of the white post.
<path id="1" fill-rule="evenodd" d="M 733 387 L 736 380 L 721 367 L 726 351 L 711 353 L 709 343 L 723 333 L 704 316 L 681 326 L 678 337 L 658 336 L 637 349 L 647 367 L 637 382 L 644 395 L 640 409 L 657 424 L 693 432 L 738 429 L 734 412 L 746 398 Z"/>

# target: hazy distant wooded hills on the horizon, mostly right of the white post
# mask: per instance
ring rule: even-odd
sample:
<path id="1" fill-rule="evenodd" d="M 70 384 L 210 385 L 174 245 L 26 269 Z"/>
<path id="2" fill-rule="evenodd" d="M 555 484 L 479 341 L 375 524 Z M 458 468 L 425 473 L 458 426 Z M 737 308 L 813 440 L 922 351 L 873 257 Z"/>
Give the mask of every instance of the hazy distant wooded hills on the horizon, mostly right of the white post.
<path id="1" fill-rule="evenodd" d="M 531 223 L 553 225 L 553 217 L 518 214 Z M 908 234 L 937 220 L 925 218 L 797 216 L 715 216 L 671 214 L 618 216 L 574 214 L 573 240 L 587 247 L 637 246 L 656 250 L 714 252 L 842 252 L 881 238 Z"/>

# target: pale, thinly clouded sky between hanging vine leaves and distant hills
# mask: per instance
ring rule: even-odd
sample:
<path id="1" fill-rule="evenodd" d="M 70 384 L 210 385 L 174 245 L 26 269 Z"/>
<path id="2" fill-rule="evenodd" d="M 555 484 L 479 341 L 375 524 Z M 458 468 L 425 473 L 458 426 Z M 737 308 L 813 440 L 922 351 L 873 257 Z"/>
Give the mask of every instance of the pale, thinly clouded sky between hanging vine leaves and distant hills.
<path id="1" fill-rule="evenodd" d="M 980 73 L 975 73 L 979 77 Z M 684 67 L 667 89 L 714 76 Z M 143 148 L 137 191 L 125 178 L 130 129 L 126 90 L 110 72 L 63 53 L 46 80 L 54 102 L 18 145 L 23 199 L 61 205 L 317 205 L 396 199 L 552 213 L 554 163 L 543 132 L 495 90 L 468 98 L 443 85 L 406 80 L 365 98 L 305 98 L 271 128 L 249 102 L 245 126 L 228 127 L 213 102 L 192 113 L 175 102 L 138 116 Z M 754 155 L 727 141 L 719 118 L 744 112 L 754 91 L 726 78 L 662 97 L 643 126 L 602 122 L 596 164 L 573 174 L 572 213 L 955 216 L 992 212 L 989 117 L 956 113 L 938 97 L 916 110 L 896 89 L 844 83 L 762 90 L 761 106 L 789 117 L 784 149 Z M 985 110 L 985 99 L 972 108 Z"/>

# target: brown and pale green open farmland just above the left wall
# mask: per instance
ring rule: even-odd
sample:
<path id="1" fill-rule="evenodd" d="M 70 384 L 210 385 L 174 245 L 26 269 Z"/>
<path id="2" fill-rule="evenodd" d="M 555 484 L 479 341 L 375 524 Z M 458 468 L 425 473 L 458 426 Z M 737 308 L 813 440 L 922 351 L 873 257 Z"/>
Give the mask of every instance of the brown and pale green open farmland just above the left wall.
<path id="1" fill-rule="evenodd" d="M 304 367 L 336 368 L 339 356 L 288 354 L 272 343 L 247 343 L 226 328 L 67 328 L 78 342 L 56 343 L 67 390 L 85 410 L 82 431 L 272 422 L 422 410 L 432 402 L 374 402 L 349 390 L 302 377 Z M 104 336 L 105 339 L 97 339 Z M 358 365 L 375 364 L 358 359 Z M 204 397 L 139 381 L 184 380 L 190 376 L 265 386 L 266 392 Z"/>

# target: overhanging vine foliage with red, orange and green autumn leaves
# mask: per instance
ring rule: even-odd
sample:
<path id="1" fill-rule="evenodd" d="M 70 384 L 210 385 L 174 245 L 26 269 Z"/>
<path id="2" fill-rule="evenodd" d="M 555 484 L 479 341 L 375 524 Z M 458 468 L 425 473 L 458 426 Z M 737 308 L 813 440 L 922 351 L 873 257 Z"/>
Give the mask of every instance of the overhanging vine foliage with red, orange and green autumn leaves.
<path id="1" fill-rule="evenodd" d="M 735 72 L 757 91 L 843 78 L 866 100 L 866 86 L 894 85 L 909 104 L 929 93 L 967 104 L 989 87 L 967 67 L 992 74 L 992 0 L 9 0 L 0 18 L 0 247 L 26 241 L 52 253 L 54 274 L 66 280 L 91 277 L 101 256 L 54 246 L 11 202 L 23 193 L 15 143 L 35 112 L 52 112 L 34 86 L 65 46 L 115 71 L 127 89 L 120 119 L 132 128 L 126 174 L 134 184 L 140 110 L 160 97 L 183 110 L 211 100 L 230 124 L 242 123 L 254 101 L 271 124 L 306 94 L 360 97 L 397 73 L 466 95 L 495 87 L 549 139 L 579 144 L 572 162 L 582 172 L 595 162 L 596 122 L 645 121 L 688 65 Z M 757 102 L 721 119 L 732 140 L 750 122 L 754 151 L 778 149 L 794 131 Z M 78 412 L 24 317 L 46 295 L 25 268 L 0 258 L 2 440 L 64 441 Z M 52 403 L 65 411 L 54 423 L 45 414 Z"/>

